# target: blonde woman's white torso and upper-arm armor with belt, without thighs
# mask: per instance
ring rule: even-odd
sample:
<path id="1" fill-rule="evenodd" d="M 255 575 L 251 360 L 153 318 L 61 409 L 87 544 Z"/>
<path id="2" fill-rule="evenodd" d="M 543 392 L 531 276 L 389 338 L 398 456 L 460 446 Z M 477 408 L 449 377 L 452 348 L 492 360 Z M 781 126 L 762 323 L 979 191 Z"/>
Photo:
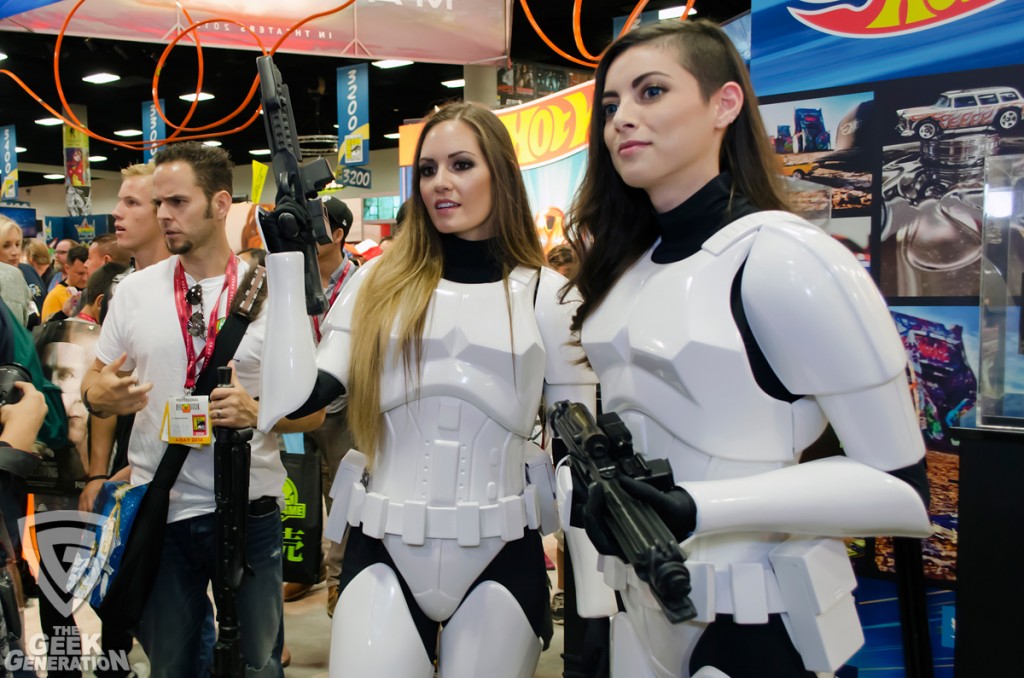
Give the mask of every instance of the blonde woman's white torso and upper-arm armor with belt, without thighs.
<path id="1" fill-rule="evenodd" d="M 328 316 L 317 366 L 343 384 L 358 269 Z M 442 280 L 423 335 L 422 369 L 409 377 L 390 355 L 381 379 L 384 426 L 369 485 L 343 511 L 383 540 L 424 612 L 446 620 L 506 542 L 556 525 L 550 460 L 528 436 L 550 387 L 590 391 L 594 377 L 566 347 L 571 306 L 558 280 L 517 268 L 503 283 Z M 536 298 L 535 298 L 536 297 Z M 511 302 L 511 312 L 510 304 Z M 530 466 L 530 482 L 526 466 Z M 541 484 L 538 484 L 538 483 Z M 544 488 L 539 491 L 539 488 Z"/>

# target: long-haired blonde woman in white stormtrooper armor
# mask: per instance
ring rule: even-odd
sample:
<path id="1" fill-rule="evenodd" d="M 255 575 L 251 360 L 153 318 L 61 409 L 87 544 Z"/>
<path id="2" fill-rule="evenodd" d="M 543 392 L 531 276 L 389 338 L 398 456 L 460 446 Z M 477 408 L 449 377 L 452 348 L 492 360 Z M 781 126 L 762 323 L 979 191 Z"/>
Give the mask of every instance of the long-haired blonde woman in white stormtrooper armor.
<path id="1" fill-rule="evenodd" d="M 331 675 L 430 678 L 437 659 L 446 677 L 528 678 L 550 637 L 541 535 L 557 526 L 529 438 L 542 395 L 593 402 L 594 377 L 501 121 L 437 110 L 413 171 L 393 248 L 354 273 L 317 349 L 317 388 L 344 386 L 359 451 L 330 520 L 351 525 Z"/>

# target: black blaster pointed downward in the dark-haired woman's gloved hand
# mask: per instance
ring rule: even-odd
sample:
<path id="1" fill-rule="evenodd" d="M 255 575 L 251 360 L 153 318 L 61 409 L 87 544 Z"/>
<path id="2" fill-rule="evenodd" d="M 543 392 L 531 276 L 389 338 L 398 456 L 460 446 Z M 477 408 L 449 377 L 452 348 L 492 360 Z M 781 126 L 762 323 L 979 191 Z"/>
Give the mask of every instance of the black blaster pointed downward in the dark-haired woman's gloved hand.
<path id="1" fill-rule="evenodd" d="M 594 416 L 580 402 L 560 400 L 548 413 L 555 434 L 565 441 L 573 484 L 604 491 L 611 536 L 626 562 L 649 587 L 673 624 L 696 617 L 689 599 L 690 575 L 683 552 L 662 517 L 623 489 L 620 478 L 669 490 L 675 482 L 667 459 L 644 459 L 633 452 L 633 436 L 615 413 Z"/>

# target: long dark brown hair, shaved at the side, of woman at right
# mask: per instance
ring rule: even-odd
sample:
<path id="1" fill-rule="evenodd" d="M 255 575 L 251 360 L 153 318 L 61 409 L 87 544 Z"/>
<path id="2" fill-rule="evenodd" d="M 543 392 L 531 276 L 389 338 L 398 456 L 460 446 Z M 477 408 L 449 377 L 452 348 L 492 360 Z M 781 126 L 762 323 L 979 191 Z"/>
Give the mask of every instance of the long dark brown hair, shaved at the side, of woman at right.
<path id="1" fill-rule="evenodd" d="M 733 193 L 744 196 L 755 207 L 785 209 L 754 87 L 729 37 L 716 24 L 702 19 L 660 22 L 627 33 L 611 43 L 597 67 L 589 164 L 565 230 L 581 261 L 571 281 L 583 295 L 572 321 L 575 331 L 657 240 L 654 209 L 647 194 L 628 186 L 611 164 L 600 104 L 612 61 L 633 47 L 650 44 L 677 54 L 680 66 L 696 79 L 706 103 L 727 82 L 742 88 L 742 109 L 726 129 L 719 151 L 720 170 L 730 172 Z"/>

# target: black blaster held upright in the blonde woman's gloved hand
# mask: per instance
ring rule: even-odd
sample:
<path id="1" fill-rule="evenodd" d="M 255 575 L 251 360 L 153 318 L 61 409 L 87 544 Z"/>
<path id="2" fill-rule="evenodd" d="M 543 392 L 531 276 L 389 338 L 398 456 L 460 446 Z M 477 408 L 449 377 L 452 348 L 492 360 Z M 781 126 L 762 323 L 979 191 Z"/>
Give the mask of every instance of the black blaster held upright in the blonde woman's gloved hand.
<path id="1" fill-rule="evenodd" d="M 278 199 L 290 196 L 309 215 L 309 227 L 304 227 L 292 214 L 267 213 L 260 210 L 260 228 L 270 252 L 302 252 L 306 312 L 319 315 L 327 309 L 327 297 L 321 284 L 316 263 L 316 245 L 329 245 L 324 205 L 316 194 L 334 180 L 331 165 L 324 158 L 299 163 L 299 137 L 295 131 L 295 116 L 288 95 L 288 85 L 281 81 L 281 72 L 271 57 L 256 58 L 259 69 L 260 93 L 263 100 L 263 122 L 266 139 L 272 154 L 273 178 L 278 182 Z"/>

